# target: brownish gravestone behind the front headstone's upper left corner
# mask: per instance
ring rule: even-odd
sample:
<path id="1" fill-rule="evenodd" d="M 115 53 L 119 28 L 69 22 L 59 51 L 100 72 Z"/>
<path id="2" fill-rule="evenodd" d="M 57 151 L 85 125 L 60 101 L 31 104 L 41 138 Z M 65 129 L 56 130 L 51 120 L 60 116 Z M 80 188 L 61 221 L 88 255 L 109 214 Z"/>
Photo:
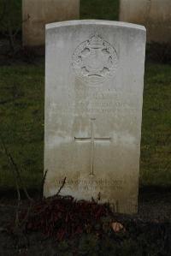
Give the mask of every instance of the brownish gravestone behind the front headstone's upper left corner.
<path id="1" fill-rule="evenodd" d="M 22 40 L 26 46 L 42 46 L 45 24 L 79 19 L 80 0 L 22 0 Z"/>

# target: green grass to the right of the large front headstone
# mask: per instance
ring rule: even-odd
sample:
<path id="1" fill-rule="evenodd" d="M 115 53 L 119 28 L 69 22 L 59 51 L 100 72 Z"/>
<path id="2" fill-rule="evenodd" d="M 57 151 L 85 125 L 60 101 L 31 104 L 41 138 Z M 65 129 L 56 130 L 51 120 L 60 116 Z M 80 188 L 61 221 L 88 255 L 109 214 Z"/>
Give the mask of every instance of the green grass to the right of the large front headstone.
<path id="1" fill-rule="evenodd" d="M 140 174 L 142 185 L 171 186 L 171 66 L 147 64 Z"/>

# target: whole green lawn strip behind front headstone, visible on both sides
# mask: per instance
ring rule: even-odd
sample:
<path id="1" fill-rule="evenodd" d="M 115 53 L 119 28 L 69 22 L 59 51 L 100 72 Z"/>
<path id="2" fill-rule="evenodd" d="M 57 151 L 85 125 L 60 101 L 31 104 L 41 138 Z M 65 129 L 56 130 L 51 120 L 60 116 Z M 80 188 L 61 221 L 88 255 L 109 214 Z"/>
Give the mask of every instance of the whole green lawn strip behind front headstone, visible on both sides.
<path id="1" fill-rule="evenodd" d="M 44 66 L 0 68 L 0 134 L 29 188 L 39 188 L 44 162 Z M 140 161 L 142 186 L 171 186 L 171 67 L 147 63 Z M 9 100 L 9 102 L 8 102 Z M 3 101 L 7 101 L 3 103 Z M 0 188 L 14 187 L 0 147 Z"/>

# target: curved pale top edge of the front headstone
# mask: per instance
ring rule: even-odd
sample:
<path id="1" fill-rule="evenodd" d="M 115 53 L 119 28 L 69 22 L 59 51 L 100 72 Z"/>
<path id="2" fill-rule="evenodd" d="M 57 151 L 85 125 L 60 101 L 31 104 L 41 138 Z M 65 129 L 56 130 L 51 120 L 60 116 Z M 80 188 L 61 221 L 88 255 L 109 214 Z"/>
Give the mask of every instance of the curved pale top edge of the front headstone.
<path id="1" fill-rule="evenodd" d="M 146 32 L 146 28 L 141 25 L 128 23 L 128 22 L 121 22 L 121 21 L 107 21 L 107 20 L 73 20 L 73 21 L 61 21 L 61 22 L 54 22 L 46 24 L 45 28 L 53 29 L 57 27 L 69 27 L 69 26 L 79 26 L 79 25 L 102 25 L 102 26 L 115 26 L 115 27 L 127 27 L 138 29 Z"/>

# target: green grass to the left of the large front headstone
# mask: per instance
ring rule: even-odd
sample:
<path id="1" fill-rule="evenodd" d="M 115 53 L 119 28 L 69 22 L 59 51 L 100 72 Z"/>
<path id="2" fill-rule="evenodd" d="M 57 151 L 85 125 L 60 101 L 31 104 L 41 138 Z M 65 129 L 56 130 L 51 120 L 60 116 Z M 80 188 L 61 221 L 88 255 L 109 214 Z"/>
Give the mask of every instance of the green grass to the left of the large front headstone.
<path id="1" fill-rule="evenodd" d="M 0 135 L 27 186 L 37 188 L 43 174 L 44 67 L 1 67 L 0 77 Z M 3 104 L 4 100 L 7 103 Z M 0 187 L 13 187 L 14 178 L 2 145 L 0 173 Z"/>

